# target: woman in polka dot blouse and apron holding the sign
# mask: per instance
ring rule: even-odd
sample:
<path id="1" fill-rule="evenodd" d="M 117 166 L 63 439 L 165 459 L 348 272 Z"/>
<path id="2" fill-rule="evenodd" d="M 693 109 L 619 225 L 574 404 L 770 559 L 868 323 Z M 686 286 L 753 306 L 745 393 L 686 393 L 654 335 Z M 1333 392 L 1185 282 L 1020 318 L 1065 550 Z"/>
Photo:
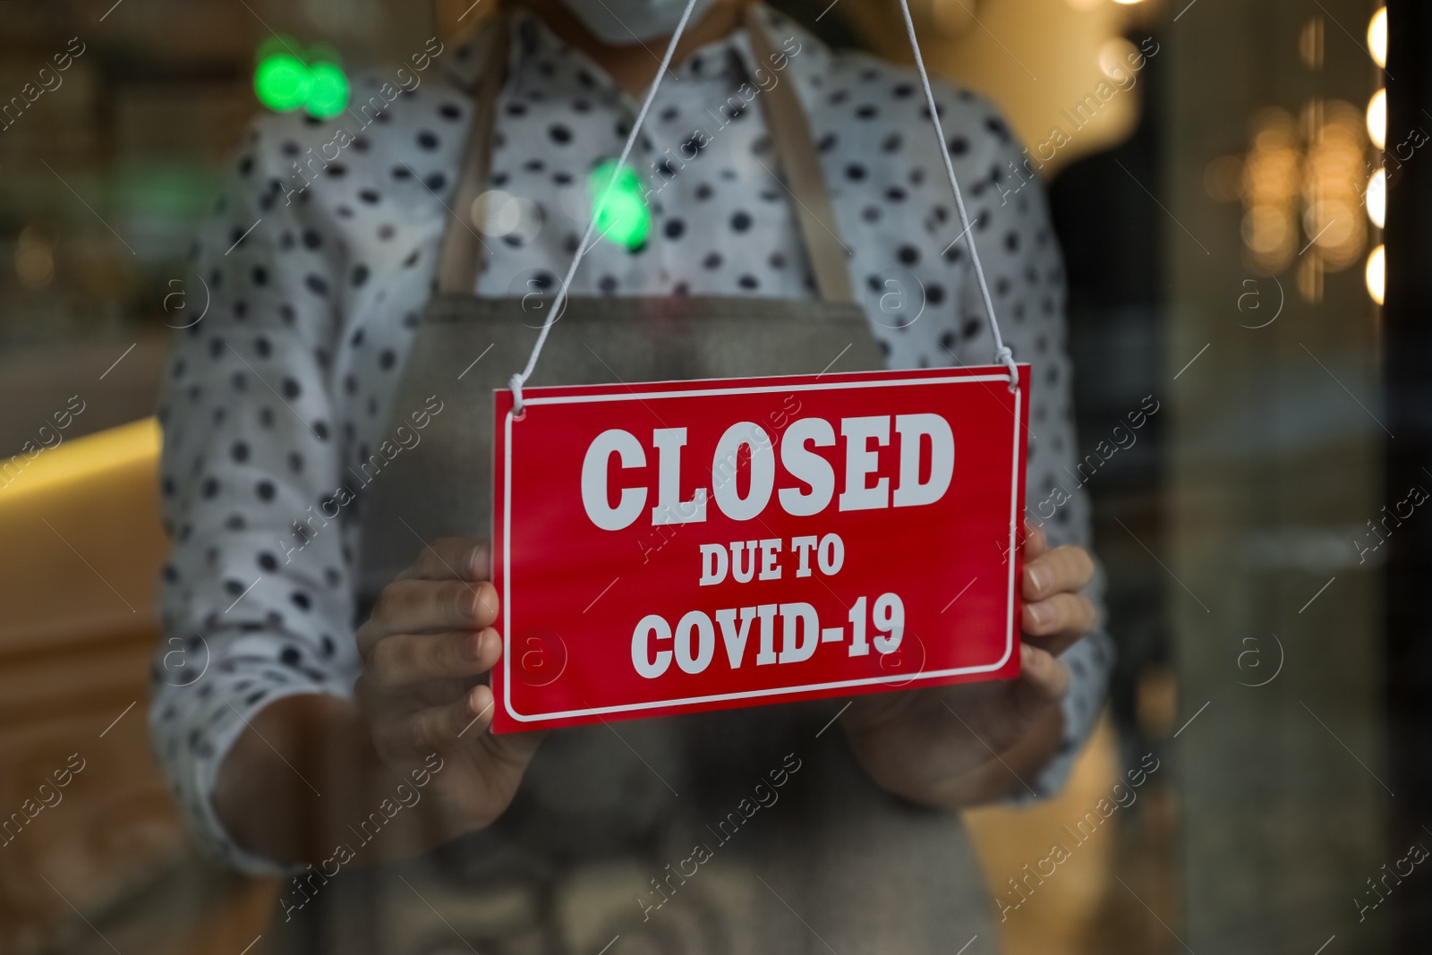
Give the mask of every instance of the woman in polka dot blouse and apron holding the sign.
<path id="1" fill-rule="evenodd" d="M 279 946 L 992 951 L 952 810 L 1053 792 L 1090 730 L 1111 653 L 1085 636 L 1083 498 L 1031 525 L 1018 680 L 485 732 L 487 491 L 454 475 L 487 441 L 474 382 L 514 368 L 455 342 L 491 326 L 513 351 L 541 324 L 531 292 L 571 262 L 589 173 L 621 152 L 686 4 L 627 6 L 527 0 L 430 44 L 425 73 L 359 83 L 342 117 L 255 125 L 196 249 L 211 316 L 180 335 L 160 411 L 165 624 L 211 664 L 156 674 L 156 747 L 208 846 L 299 873 Z M 1028 494 L 1047 498 L 1074 447 L 1054 238 L 1032 190 L 1000 188 L 1020 150 L 998 116 L 937 100 L 965 232 L 909 70 L 697 0 L 632 156 L 649 231 L 584 249 L 553 342 L 632 315 L 706 328 L 739 298 L 776 329 L 843 322 L 786 371 L 987 364 L 972 241 L 1034 365 Z M 516 222 L 473 202 L 487 189 Z M 739 368 L 769 357 L 736 345 Z M 553 381 L 604 374 L 566 354 Z"/>

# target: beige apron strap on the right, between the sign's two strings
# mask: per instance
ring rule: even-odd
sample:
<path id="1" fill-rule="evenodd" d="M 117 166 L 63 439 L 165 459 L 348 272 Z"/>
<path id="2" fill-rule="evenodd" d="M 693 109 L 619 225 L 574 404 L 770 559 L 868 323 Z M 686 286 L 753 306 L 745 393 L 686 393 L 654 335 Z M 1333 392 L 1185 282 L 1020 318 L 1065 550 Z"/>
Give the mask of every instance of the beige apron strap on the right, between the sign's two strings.
<path id="1" fill-rule="evenodd" d="M 775 46 L 766 31 L 759 3 L 746 7 L 746 33 L 758 66 L 765 64 L 769 69 Z M 780 157 L 790 195 L 796 200 L 796 220 L 806 243 L 806 255 L 811 256 L 816 289 L 826 302 L 853 302 L 851 271 L 845 263 L 851 251 L 838 235 L 831 193 L 825 186 L 825 170 L 815 150 L 811 122 L 796 96 L 795 80 L 782 77 L 756 99 L 760 100 L 766 130 Z"/>

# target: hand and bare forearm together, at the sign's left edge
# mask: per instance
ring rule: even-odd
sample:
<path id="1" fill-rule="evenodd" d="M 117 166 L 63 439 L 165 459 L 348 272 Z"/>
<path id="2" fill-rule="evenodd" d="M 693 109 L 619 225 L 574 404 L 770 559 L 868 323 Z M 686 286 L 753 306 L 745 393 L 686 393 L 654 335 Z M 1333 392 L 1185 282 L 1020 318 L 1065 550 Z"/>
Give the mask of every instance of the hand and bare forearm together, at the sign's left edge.
<path id="1" fill-rule="evenodd" d="M 487 732 L 493 692 L 483 677 L 503 653 L 487 577 L 475 541 L 425 547 L 358 630 L 354 700 L 285 696 L 245 720 L 213 790 L 241 846 L 321 868 L 335 846 L 362 863 L 401 859 L 507 809 L 543 735 Z M 377 836 L 375 818 L 388 820 Z M 354 825 L 365 820 L 359 835 Z"/>

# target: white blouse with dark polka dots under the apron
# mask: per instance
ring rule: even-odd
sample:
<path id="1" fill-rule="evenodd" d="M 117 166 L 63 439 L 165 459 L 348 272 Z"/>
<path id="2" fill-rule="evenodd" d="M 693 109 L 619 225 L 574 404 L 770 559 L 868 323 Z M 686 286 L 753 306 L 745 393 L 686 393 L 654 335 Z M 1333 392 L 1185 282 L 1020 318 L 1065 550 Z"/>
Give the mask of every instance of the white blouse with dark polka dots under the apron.
<path id="1" fill-rule="evenodd" d="M 765 16 L 785 54 L 766 84 L 793 83 L 805 106 L 852 285 L 889 367 L 990 364 L 918 79 Z M 471 116 L 464 90 L 478 63 L 468 47 L 434 42 L 428 53 L 422 70 L 359 79 L 354 106 L 334 120 L 253 123 L 193 251 L 212 304 L 178 332 L 168 368 L 159 418 L 173 551 L 150 724 L 200 839 L 249 872 L 278 866 L 236 846 L 213 813 L 228 747 L 279 697 L 349 696 L 361 666 L 359 528 L 348 514 L 308 518 L 384 438 L 454 213 Z M 554 288 L 591 208 L 589 175 L 620 152 L 639 106 L 527 14 L 514 19 L 510 57 L 490 183 L 504 196 L 484 206 L 483 296 Z M 646 241 L 599 242 L 574 294 L 815 295 L 748 80 L 755 66 L 737 31 L 673 67 L 633 153 L 652 212 Z M 1038 186 L 1015 175 L 1024 155 L 1000 115 L 945 84 L 937 99 L 1005 342 L 1034 367 L 1032 507 L 1074 464 L 1060 253 Z M 311 528 L 301 551 L 295 523 Z M 1087 498 L 1075 491 L 1044 525 L 1055 544 L 1087 544 Z M 1088 736 L 1113 663 L 1108 637 L 1093 634 L 1064 660 L 1065 740 L 1028 780 L 1041 795 L 1063 785 Z"/>

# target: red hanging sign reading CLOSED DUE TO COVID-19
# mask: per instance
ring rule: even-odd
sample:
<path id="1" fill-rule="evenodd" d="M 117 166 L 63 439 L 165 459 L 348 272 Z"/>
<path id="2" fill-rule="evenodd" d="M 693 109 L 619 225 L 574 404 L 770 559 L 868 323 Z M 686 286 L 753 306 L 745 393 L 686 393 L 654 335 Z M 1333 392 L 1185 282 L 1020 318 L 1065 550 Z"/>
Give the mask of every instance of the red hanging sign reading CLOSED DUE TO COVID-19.
<path id="1" fill-rule="evenodd" d="M 1017 676 L 1028 367 L 497 392 L 497 733 Z"/>

